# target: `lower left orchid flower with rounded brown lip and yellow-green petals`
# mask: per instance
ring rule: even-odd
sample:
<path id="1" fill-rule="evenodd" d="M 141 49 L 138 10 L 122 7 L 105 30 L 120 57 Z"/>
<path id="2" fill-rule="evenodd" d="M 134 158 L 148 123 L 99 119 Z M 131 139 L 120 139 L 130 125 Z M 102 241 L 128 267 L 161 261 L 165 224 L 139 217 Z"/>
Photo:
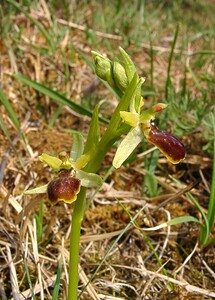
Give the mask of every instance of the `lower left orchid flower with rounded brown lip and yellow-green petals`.
<path id="1" fill-rule="evenodd" d="M 82 138 L 80 140 L 74 136 L 70 157 L 65 151 L 60 152 L 58 157 L 46 153 L 39 156 L 41 162 L 57 172 L 57 177 L 43 186 L 25 191 L 25 195 L 47 193 L 48 200 L 52 205 L 60 201 L 72 203 L 77 199 L 81 186 L 100 187 L 102 185 L 102 179 L 99 175 L 81 170 L 80 162 L 78 163 L 79 166 L 76 166 L 74 160 L 77 159 L 78 161 L 79 156 L 82 155 L 83 151 L 80 149 L 83 143 Z M 80 137 L 80 134 L 78 136 Z M 79 148 L 79 153 L 74 151 L 77 148 Z"/>

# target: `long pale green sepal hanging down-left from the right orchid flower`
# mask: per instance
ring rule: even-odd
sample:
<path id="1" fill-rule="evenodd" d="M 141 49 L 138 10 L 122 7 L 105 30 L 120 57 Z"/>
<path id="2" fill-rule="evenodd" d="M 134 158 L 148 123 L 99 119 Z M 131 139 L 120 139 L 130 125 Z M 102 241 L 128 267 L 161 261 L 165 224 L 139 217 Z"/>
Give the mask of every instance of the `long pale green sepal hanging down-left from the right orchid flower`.
<path id="1" fill-rule="evenodd" d="M 143 133 L 140 127 L 137 126 L 132 128 L 119 145 L 113 160 L 113 166 L 115 168 L 121 167 L 123 162 L 134 151 L 142 139 Z"/>

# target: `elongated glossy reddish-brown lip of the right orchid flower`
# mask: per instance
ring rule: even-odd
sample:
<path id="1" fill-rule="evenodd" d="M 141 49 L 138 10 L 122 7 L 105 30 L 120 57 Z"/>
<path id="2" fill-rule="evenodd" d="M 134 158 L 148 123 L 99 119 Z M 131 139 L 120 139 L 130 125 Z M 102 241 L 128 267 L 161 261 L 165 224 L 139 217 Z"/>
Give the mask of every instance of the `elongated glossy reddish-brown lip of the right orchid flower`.
<path id="1" fill-rule="evenodd" d="M 171 163 L 177 164 L 185 158 L 186 151 L 181 141 L 168 132 L 160 131 L 154 122 L 151 122 L 147 139 L 157 146 Z"/>

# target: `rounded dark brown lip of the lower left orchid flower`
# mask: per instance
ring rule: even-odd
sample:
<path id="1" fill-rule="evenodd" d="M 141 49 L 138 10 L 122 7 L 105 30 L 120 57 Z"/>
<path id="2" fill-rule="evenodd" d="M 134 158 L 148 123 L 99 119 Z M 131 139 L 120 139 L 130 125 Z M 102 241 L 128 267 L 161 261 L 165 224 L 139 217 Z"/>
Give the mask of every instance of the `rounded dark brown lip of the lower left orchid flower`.
<path id="1" fill-rule="evenodd" d="M 52 205 L 59 201 L 72 203 L 80 191 L 81 181 L 72 177 L 70 171 L 61 170 L 58 178 L 49 182 L 47 187 L 48 199 Z"/>

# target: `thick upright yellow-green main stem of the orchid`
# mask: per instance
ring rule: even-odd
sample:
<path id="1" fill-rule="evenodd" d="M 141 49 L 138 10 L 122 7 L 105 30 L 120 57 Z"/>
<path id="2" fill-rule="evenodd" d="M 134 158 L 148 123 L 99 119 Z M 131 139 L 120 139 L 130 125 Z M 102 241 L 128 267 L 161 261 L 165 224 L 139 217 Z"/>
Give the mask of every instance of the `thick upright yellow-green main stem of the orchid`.
<path id="1" fill-rule="evenodd" d="M 110 123 L 102 136 L 96 149 L 90 154 L 90 161 L 87 166 L 83 169 L 86 172 L 96 173 L 101 165 L 106 153 L 110 147 L 114 144 L 117 138 L 121 134 L 126 134 L 129 131 L 129 127 L 122 126 L 119 129 L 121 122 L 120 111 L 125 110 L 133 98 L 134 93 L 141 82 L 138 80 L 137 75 L 134 75 L 127 92 L 122 96 L 114 114 L 110 120 Z M 86 188 L 81 188 L 75 202 L 74 211 L 72 214 L 72 228 L 70 233 L 70 262 L 69 262 L 69 289 L 68 289 L 68 300 L 78 299 L 78 261 L 79 261 L 79 243 L 80 243 L 80 232 L 81 224 L 85 212 L 85 196 Z"/>

